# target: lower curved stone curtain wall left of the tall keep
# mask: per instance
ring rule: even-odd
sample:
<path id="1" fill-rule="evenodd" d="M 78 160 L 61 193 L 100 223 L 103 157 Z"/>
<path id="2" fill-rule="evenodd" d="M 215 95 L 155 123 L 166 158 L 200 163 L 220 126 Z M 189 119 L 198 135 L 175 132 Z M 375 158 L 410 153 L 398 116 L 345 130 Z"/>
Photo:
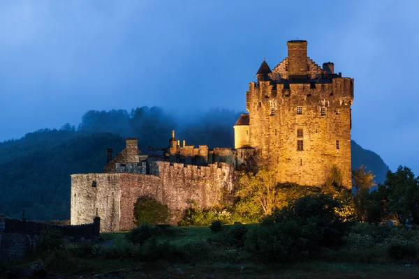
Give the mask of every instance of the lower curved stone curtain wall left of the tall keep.
<path id="1" fill-rule="evenodd" d="M 151 174 L 73 174 L 71 176 L 71 224 L 80 225 L 96 214 L 102 217 L 101 232 L 133 227 L 133 206 L 138 197 L 149 195 L 167 204 L 176 224 L 192 204 L 219 206 L 223 193 L 233 189 L 234 167 L 207 167 L 155 162 Z M 96 181 L 96 187 L 92 187 Z"/>

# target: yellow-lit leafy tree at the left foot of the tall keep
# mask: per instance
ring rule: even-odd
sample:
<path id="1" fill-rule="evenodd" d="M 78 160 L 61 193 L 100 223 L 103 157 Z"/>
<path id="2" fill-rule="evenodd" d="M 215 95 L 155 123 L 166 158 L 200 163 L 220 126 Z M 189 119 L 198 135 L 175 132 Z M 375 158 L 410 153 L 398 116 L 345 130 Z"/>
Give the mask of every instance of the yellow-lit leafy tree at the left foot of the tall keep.
<path id="1" fill-rule="evenodd" d="M 275 173 L 267 167 L 260 167 L 256 174 L 243 173 L 239 179 L 239 190 L 236 196 L 240 202 L 238 211 L 247 211 L 255 214 L 262 212 L 264 215 L 272 213 L 277 205 L 278 189 Z"/>

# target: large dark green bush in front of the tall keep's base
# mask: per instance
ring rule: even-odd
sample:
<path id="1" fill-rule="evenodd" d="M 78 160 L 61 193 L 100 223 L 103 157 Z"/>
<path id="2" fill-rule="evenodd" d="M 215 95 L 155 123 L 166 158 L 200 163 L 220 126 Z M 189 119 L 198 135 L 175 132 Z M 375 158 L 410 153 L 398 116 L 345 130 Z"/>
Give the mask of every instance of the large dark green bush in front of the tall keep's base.
<path id="1" fill-rule="evenodd" d="M 343 204 L 332 195 L 297 199 L 292 206 L 274 211 L 246 241 L 261 259 L 293 262 L 308 259 L 321 247 L 344 245 L 346 223 L 337 213 Z"/>

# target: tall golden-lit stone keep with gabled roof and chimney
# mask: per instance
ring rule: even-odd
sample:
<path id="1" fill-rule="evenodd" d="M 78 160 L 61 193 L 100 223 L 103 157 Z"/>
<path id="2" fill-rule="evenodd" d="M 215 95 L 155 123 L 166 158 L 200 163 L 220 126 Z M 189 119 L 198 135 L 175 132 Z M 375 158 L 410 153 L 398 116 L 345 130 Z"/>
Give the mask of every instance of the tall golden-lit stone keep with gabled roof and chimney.
<path id="1" fill-rule="evenodd" d="M 353 79 L 319 67 L 307 41 L 290 40 L 288 57 L 273 70 L 262 62 L 246 92 L 246 110 L 235 123 L 235 149 L 256 149 L 280 182 L 318 185 L 335 165 L 351 188 Z"/>

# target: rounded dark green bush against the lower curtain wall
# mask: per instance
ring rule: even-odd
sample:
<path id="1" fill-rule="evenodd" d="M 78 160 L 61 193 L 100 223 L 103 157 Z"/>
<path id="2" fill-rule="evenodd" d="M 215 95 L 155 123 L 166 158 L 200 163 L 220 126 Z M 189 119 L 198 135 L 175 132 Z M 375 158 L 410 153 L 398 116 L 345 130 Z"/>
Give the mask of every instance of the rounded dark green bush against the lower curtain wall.
<path id="1" fill-rule="evenodd" d="M 134 223 L 159 224 L 166 223 L 170 216 L 167 204 L 158 202 L 154 197 L 142 196 L 134 204 Z"/>

